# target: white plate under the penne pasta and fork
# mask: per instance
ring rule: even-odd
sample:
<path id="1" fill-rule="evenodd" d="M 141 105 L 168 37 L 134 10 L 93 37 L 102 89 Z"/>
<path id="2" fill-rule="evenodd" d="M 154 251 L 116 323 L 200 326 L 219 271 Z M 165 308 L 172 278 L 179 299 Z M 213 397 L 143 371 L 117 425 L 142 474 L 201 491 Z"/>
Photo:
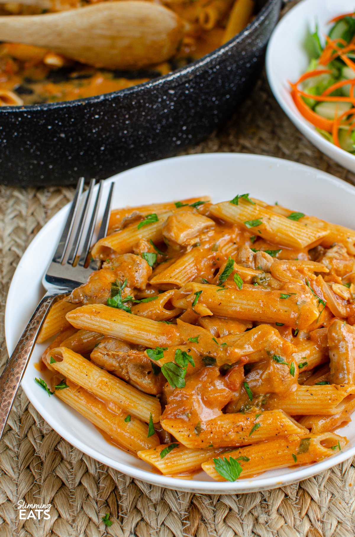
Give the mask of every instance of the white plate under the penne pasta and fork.
<path id="1" fill-rule="evenodd" d="M 303 211 L 331 222 L 355 227 L 355 187 L 319 170 L 278 158 L 246 154 L 202 154 L 153 162 L 114 176 L 113 207 L 141 205 L 154 201 L 179 200 L 203 194 L 214 201 L 228 200 L 250 192 L 270 204 Z M 109 180 L 105 184 L 108 192 Z M 6 302 L 5 332 L 9 353 L 43 295 L 41 278 L 53 255 L 68 214 L 61 209 L 35 236 L 14 273 Z M 217 483 L 201 472 L 194 480 L 179 480 L 153 473 L 150 466 L 108 444 L 93 425 L 56 397 L 48 397 L 34 382 L 39 376 L 35 362 L 45 345 L 36 345 L 26 369 L 23 389 L 41 416 L 70 444 L 94 459 L 125 474 L 175 490 L 224 494 L 271 489 L 305 479 L 355 454 L 355 422 L 342 431 L 350 443 L 330 459 L 296 470 L 280 469 L 235 483 Z"/>

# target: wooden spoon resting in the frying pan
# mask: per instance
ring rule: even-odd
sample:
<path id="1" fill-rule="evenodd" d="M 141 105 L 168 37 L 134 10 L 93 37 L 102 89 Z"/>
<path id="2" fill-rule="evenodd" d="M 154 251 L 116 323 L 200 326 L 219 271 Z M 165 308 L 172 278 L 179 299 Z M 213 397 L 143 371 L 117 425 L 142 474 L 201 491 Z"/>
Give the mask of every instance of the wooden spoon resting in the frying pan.
<path id="1" fill-rule="evenodd" d="M 168 60 L 183 33 L 176 13 L 144 0 L 0 17 L 0 41 L 45 47 L 107 69 L 139 69 Z"/>

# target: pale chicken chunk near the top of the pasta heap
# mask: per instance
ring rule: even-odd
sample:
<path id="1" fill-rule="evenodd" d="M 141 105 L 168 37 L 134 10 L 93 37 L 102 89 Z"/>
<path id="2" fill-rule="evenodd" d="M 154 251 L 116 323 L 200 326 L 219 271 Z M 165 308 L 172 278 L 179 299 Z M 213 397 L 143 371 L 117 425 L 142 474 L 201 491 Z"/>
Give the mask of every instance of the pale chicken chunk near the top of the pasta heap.
<path id="1" fill-rule="evenodd" d="M 214 226 L 213 220 L 198 214 L 197 211 L 179 211 L 168 217 L 162 228 L 162 234 L 168 243 L 191 246 L 198 242 L 199 235 L 203 231 Z"/>

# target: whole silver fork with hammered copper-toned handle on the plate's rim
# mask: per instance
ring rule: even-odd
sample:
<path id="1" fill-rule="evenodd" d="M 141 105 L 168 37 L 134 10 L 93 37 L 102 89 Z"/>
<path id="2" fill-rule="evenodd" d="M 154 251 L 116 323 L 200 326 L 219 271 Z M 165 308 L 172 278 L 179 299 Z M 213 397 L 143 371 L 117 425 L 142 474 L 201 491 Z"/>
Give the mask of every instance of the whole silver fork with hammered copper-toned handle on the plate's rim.
<path id="1" fill-rule="evenodd" d="M 0 377 L 0 439 L 3 435 L 5 424 L 8 421 L 9 413 L 24 376 L 26 366 L 31 357 L 33 347 L 41 330 L 42 324 L 47 317 L 50 307 L 58 300 L 62 299 L 72 289 L 83 284 L 91 272 L 99 269 L 99 262 L 91 260 L 85 268 L 86 259 L 90 250 L 90 245 L 94 233 L 95 224 L 98 217 L 100 199 L 102 195 L 103 183 L 100 182 L 98 193 L 94 202 L 94 207 L 90 217 L 90 205 L 95 186 L 95 179 L 92 179 L 86 192 L 86 199 L 81 214 L 78 213 L 80 197 L 83 193 L 84 178 L 80 178 L 75 195 L 71 204 L 68 220 L 63 229 L 63 233 L 58 243 L 57 249 L 42 278 L 42 285 L 47 293 L 36 307 L 34 314 L 28 322 L 22 336 L 19 339 L 13 353 L 6 362 L 4 371 Z M 107 233 L 108 220 L 111 209 L 114 183 L 111 184 L 108 194 L 105 212 L 97 240 L 105 237 Z M 90 222 L 89 222 L 90 220 Z M 88 223 L 83 249 L 78 259 L 78 248 L 82 240 L 83 231 Z M 69 244 L 73 237 L 69 257 L 64 259 L 69 250 Z"/>

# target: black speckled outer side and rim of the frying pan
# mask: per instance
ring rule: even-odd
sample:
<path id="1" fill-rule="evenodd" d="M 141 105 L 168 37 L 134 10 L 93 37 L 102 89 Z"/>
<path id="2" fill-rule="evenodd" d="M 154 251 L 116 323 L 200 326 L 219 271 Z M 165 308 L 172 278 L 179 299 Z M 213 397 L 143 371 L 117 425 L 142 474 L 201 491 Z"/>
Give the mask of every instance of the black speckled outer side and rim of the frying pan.
<path id="1" fill-rule="evenodd" d="M 106 178 L 196 144 L 238 107 L 260 73 L 281 0 L 259 0 L 243 32 L 187 67 L 97 97 L 0 108 L 0 183 Z"/>

